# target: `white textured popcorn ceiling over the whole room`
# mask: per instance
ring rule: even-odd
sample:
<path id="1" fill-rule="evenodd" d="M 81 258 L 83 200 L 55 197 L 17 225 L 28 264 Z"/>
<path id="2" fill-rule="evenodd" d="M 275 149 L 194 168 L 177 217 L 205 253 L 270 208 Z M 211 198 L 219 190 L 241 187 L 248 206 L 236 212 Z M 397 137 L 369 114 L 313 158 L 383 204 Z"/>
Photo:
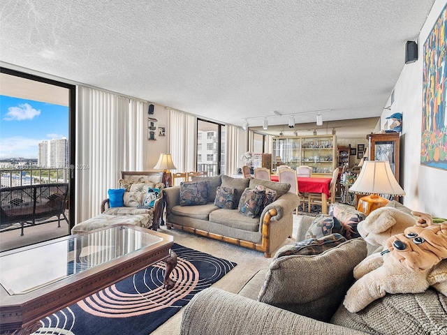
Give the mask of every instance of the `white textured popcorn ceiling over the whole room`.
<path id="1" fill-rule="evenodd" d="M 432 3 L 3 0 L 0 61 L 239 126 L 379 117 Z"/>

